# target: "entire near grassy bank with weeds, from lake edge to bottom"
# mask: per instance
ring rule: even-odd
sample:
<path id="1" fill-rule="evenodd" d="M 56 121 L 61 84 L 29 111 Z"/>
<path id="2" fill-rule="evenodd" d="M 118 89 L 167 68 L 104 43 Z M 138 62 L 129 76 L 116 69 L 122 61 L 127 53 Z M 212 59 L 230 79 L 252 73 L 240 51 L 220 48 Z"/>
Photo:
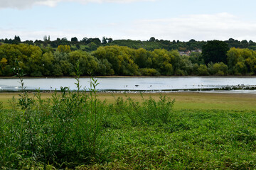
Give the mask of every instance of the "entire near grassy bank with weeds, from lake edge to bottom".
<path id="1" fill-rule="evenodd" d="M 0 101 L 0 169 L 256 168 L 252 94 L 63 89 Z"/>

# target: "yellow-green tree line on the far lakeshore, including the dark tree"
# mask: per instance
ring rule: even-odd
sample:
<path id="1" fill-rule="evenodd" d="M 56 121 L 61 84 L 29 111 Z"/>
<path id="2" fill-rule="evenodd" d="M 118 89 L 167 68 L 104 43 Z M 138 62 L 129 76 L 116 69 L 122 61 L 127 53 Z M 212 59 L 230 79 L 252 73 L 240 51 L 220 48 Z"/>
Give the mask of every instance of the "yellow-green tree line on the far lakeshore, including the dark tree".
<path id="1" fill-rule="evenodd" d="M 27 43 L 0 45 L 0 76 L 13 76 L 21 68 L 31 77 L 75 76 L 80 64 L 82 76 L 188 76 L 255 75 L 256 51 L 228 47 L 223 41 L 208 41 L 203 52 L 180 55 L 178 50 L 106 45 L 91 52 L 56 49 Z"/>

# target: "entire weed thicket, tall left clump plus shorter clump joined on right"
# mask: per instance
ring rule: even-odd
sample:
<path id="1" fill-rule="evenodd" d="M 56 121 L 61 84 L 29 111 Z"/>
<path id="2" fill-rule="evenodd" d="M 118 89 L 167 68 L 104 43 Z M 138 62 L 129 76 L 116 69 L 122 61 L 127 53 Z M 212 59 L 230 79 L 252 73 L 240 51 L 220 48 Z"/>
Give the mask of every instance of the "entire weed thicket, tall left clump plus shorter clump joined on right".
<path id="1" fill-rule="evenodd" d="M 117 98 L 107 105 L 97 100 L 97 80 L 91 79 L 89 93 L 80 91 L 77 64 L 77 91 L 61 87 L 51 98 L 38 91 L 28 96 L 20 78 L 21 94 L 11 109 L 0 103 L 0 169 L 65 169 L 80 164 L 102 164 L 112 159 L 110 128 L 166 125 L 171 121 L 174 100 L 159 101 L 142 96 L 143 103 Z M 112 152 L 110 152 L 112 149 Z"/>

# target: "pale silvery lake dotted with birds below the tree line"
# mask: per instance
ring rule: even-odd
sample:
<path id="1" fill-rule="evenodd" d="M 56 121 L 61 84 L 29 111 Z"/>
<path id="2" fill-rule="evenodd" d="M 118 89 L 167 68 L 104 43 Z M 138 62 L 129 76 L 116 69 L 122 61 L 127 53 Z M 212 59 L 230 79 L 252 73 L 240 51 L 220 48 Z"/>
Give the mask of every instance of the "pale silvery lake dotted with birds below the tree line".
<path id="1" fill-rule="evenodd" d="M 1 91 L 21 89 L 19 79 L 0 79 Z M 26 90 L 60 90 L 68 86 L 75 90 L 74 78 L 23 79 Z M 256 93 L 256 77 L 106 77 L 97 78 L 99 91 L 183 91 L 218 89 L 253 89 L 245 93 Z M 90 87 L 90 78 L 80 78 L 82 89 Z M 213 91 L 212 91 L 213 92 Z M 217 92 L 217 91 L 216 91 Z"/>

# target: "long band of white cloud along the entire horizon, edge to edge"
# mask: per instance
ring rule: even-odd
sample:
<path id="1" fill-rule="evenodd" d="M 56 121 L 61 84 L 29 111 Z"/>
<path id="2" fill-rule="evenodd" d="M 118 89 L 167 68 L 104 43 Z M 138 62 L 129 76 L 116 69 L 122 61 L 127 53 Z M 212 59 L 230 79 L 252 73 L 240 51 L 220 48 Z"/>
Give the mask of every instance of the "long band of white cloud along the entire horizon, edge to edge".
<path id="1" fill-rule="evenodd" d="M 56 38 L 77 37 L 149 40 L 152 36 L 163 40 L 253 40 L 256 41 L 256 22 L 243 21 L 229 13 L 213 15 L 188 15 L 176 18 L 140 20 L 134 22 L 99 23 L 79 28 L 44 28 L 44 31 L 31 31 L 23 28 L 1 29 L 0 38 L 14 38 L 19 35 L 21 40 L 43 39 L 50 35 Z"/>

